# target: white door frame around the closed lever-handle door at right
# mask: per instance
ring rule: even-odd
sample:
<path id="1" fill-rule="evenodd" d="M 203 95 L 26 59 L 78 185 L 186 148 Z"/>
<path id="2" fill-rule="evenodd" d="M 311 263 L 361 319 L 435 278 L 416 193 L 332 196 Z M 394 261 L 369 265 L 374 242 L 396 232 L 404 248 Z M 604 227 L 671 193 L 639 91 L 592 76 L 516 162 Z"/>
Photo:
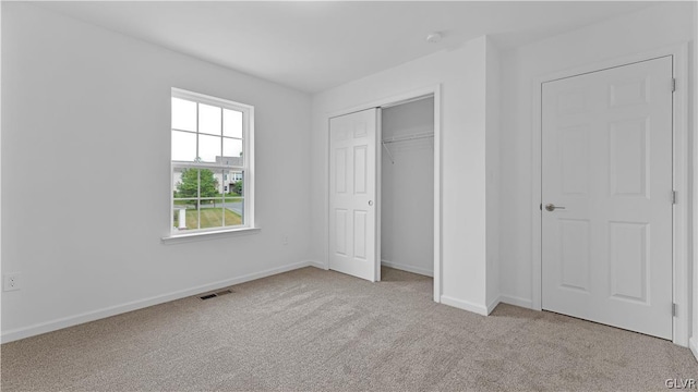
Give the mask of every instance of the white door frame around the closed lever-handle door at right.
<path id="1" fill-rule="evenodd" d="M 551 73 L 533 79 L 532 88 L 532 127 L 531 127 L 531 308 L 542 310 L 542 84 L 559 78 L 578 76 L 586 73 L 603 71 L 611 68 L 628 65 L 636 62 L 673 56 L 673 73 L 676 78 L 676 90 L 673 94 L 673 187 L 676 191 L 676 204 L 673 208 L 673 302 L 676 315 L 673 317 L 672 341 L 688 346 L 690 319 L 689 293 L 690 277 L 688 274 L 688 173 L 690 159 L 688 150 L 688 44 L 664 47 L 652 51 L 624 56 L 606 61 L 595 62 L 570 70 Z M 695 154 L 695 151 L 694 151 Z"/>

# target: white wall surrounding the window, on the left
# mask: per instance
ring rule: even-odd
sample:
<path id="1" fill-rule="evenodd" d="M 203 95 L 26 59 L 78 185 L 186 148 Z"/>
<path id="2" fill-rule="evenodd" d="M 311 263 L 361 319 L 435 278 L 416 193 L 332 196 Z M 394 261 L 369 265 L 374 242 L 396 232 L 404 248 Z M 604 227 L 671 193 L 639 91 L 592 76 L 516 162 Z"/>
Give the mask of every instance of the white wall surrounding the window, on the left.
<path id="1" fill-rule="evenodd" d="M 2 3 L 2 272 L 24 285 L 5 341 L 306 259 L 310 96 L 21 2 Z M 261 233 L 160 241 L 171 87 L 255 107 Z"/>

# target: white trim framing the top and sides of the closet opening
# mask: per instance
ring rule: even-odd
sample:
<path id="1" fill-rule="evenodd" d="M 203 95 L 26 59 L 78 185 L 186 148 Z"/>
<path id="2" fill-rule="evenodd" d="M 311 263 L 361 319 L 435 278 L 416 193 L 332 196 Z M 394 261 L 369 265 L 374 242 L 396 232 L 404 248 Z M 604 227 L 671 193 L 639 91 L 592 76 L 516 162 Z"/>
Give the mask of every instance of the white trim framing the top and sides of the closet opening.
<path id="1" fill-rule="evenodd" d="M 412 89 L 406 93 L 396 94 L 390 97 L 385 97 L 381 99 L 376 99 L 374 101 L 370 101 L 368 103 L 358 105 L 354 107 L 350 107 L 348 109 L 336 110 L 328 113 L 325 113 L 324 118 L 326 120 L 326 132 L 329 133 L 329 119 L 356 113 L 362 110 L 371 109 L 371 108 L 381 108 L 383 106 L 392 106 L 395 103 L 408 102 L 417 98 L 423 98 L 425 96 L 433 95 L 434 97 L 434 302 L 440 303 L 442 298 L 442 238 L 441 238 L 441 224 L 442 224 L 442 159 L 441 159 L 441 150 L 442 150 L 442 139 L 441 139 L 441 84 L 436 84 L 430 87 L 422 87 Z M 377 143 L 377 142 L 376 142 Z M 325 221 L 325 232 L 329 231 L 329 137 L 327 138 L 327 145 L 325 146 L 326 155 L 326 164 L 325 164 L 325 179 L 327 180 L 327 188 L 325 189 L 325 211 L 327 212 L 326 221 Z M 380 148 L 376 148 L 380 150 Z M 380 235 L 380 232 L 376 233 Z M 376 242 L 376 247 L 380 242 Z M 380 249 L 378 249 L 380 250 Z M 325 248 L 325 258 L 327 262 L 327 268 L 329 268 L 329 238 L 326 241 Z M 376 261 L 378 258 L 376 258 Z"/>

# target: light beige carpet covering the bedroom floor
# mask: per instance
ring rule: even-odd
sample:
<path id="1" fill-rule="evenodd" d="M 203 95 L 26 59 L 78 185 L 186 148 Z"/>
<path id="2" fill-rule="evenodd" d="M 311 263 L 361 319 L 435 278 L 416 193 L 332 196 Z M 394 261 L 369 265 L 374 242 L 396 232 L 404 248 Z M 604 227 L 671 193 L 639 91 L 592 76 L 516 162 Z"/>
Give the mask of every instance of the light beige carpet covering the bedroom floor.
<path id="1" fill-rule="evenodd" d="M 3 344 L 2 391 L 665 391 L 687 348 L 500 305 L 432 302 L 432 280 L 315 268 Z"/>

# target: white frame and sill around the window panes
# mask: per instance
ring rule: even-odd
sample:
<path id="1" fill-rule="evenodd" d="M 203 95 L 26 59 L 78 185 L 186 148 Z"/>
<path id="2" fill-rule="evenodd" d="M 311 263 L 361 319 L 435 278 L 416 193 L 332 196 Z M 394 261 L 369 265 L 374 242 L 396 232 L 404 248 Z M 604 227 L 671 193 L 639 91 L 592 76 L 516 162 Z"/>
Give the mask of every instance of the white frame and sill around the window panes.
<path id="1" fill-rule="evenodd" d="M 170 234 L 163 237 L 164 241 L 181 238 L 181 237 L 194 237 L 207 234 L 219 233 L 242 233 L 250 231 L 258 231 L 254 224 L 254 107 L 245 103 L 234 102 L 231 100 L 216 98 L 200 93 L 188 91 L 181 88 L 172 87 L 171 98 L 180 98 L 197 103 L 209 105 L 224 109 L 230 109 L 242 112 L 242 166 L 225 166 L 222 159 L 220 163 L 213 162 L 184 162 L 172 161 L 172 155 L 170 149 Z M 171 110 L 171 105 L 170 105 Z M 170 117 L 171 118 L 171 117 Z M 197 125 L 198 126 L 198 125 Z M 198 131 L 197 131 L 198 132 Z M 171 145 L 172 127 L 169 127 L 169 137 Z M 222 156 L 222 152 L 221 152 Z M 212 170 L 240 170 L 244 172 L 244 186 L 242 188 L 243 197 L 243 224 L 236 226 L 222 226 L 222 228 L 209 228 L 209 229 L 195 229 L 182 233 L 174 228 L 174 197 L 172 189 L 174 188 L 174 169 L 212 169 Z M 225 196 L 224 196 L 225 197 Z M 225 200 L 225 199 L 224 199 Z"/>

